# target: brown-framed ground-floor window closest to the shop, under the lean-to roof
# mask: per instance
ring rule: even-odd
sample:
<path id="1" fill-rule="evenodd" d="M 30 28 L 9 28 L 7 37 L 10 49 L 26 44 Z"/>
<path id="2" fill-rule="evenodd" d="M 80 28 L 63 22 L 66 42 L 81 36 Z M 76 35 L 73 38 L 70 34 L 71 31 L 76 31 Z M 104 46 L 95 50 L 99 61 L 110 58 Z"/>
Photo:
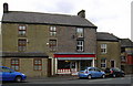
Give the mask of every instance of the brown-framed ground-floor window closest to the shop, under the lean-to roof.
<path id="1" fill-rule="evenodd" d="M 33 60 L 33 69 L 34 71 L 42 71 L 42 60 L 41 58 Z"/>

